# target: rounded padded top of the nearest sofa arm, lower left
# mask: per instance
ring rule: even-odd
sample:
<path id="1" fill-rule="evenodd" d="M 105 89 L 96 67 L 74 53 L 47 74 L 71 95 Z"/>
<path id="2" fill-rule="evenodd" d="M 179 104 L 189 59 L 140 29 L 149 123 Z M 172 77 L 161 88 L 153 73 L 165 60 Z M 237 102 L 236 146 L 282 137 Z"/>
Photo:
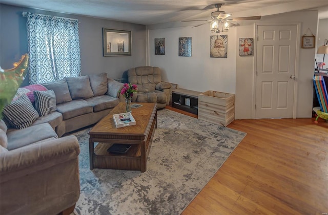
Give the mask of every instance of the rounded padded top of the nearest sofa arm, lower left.
<path id="1" fill-rule="evenodd" d="M 78 159 L 79 153 L 78 140 L 73 135 L 1 153 L 1 183 Z"/>

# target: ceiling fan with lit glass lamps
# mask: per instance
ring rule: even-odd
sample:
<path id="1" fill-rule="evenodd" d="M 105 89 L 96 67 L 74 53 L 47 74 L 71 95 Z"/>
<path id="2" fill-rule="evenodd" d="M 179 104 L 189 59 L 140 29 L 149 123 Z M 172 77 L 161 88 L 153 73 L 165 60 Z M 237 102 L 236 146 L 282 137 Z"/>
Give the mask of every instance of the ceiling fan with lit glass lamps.
<path id="1" fill-rule="evenodd" d="M 206 23 L 202 23 L 202 24 L 193 26 L 193 28 L 211 23 L 211 31 L 219 33 L 221 31 L 228 31 L 230 26 L 236 25 L 236 24 L 231 23 L 231 21 L 261 19 L 261 16 L 246 16 L 246 17 L 228 18 L 229 16 L 231 16 L 231 14 L 226 13 L 224 11 L 220 11 L 220 8 L 222 5 L 223 5 L 223 3 L 214 4 L 215 8 L 217 8 L 217 11 L 214 11 L 211 13 L 211 19 L 209 19 L 209 20 L 204 20 L 204 19 L 182 20 L 182 22 L 206 21 Z"/>

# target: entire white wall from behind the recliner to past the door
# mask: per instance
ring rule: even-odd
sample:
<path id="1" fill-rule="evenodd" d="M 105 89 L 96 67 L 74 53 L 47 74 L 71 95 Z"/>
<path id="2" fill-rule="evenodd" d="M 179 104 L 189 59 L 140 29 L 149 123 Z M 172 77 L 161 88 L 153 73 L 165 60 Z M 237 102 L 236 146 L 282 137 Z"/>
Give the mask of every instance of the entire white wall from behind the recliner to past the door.
<path id="1" fill-rule="evenodd" d="M 257 23 L 300 23 L 299 38 L 308 28 L 317 32 L 318 11 L 290 12 L 263 16 Z M 196 28 L 179 24 L 150 26 L 149 65 L 160 67 L 163 79 L 180 88 L 204 92 L 215 90 L 236 94 L 235 118 L 254 118 L 254 56 L 238 55 L 238 38 L 255 38 L 255 22 L 238 22 L 228 34 L 228 58 L 210 57 L 209 24 Z M 186 23 L 183 23 L 185 25 Z M 195 24 L 196 25 L 196 24 Z M 155 55 L 154 38 L 165 37 L 165 55 Z M 178 56 L 178 37 L 192 37 L 192 57 Z M 300 44 L 299 44 L 300 46 Z M 316 49 L 300 49 L 298 53 L 297 118 L 312 116 L 313 66 Z M 328 58 L 328 56 L 327 56 Z"/>

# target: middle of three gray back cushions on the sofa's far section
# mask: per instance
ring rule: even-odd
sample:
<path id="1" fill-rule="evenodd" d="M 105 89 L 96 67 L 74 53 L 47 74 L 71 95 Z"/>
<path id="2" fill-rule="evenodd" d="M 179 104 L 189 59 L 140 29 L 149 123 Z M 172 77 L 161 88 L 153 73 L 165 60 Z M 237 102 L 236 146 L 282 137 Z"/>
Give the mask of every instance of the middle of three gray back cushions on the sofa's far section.
<path id="1" fill-rule="evenodd" d="M 87 99 L 93 96 L 89 76 L 66 78 L 72 99 Z"/>

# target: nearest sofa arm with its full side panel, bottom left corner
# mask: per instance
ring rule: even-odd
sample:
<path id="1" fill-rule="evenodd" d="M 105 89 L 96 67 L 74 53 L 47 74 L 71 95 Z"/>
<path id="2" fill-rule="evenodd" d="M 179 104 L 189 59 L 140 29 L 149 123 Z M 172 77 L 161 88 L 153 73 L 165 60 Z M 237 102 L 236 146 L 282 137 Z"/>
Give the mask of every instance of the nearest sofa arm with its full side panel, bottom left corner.
<path id="1" fill-rule="evenodd" d="M 75 136 L 0 154 L 0 214 L 58 214 L 80 195 Z"/>

